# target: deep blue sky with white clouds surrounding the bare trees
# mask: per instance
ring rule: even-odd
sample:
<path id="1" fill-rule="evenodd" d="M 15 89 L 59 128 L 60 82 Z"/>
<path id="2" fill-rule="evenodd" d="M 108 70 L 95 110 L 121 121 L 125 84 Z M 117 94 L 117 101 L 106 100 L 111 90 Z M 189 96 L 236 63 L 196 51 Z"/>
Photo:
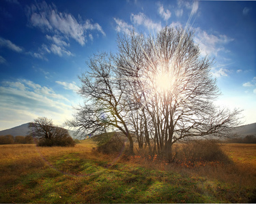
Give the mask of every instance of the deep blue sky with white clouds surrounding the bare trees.
<path id="1" fill-rule="evenodd" d="M 97 52 L 117 52 L 117 34 L 195 31 L 220 107 L 256 122 L 256 1 L 0 1 L 0 131 L 46 116 L 61 125 L 83 103 L 78 75 Z"/>

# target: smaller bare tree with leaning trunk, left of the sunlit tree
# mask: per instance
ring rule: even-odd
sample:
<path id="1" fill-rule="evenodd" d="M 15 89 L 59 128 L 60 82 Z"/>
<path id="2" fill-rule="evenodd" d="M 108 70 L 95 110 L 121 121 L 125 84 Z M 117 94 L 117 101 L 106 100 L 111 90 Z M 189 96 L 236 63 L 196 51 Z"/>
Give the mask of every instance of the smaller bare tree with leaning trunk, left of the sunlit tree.
<path id="1" fill-rule="evenodd" d="M 125 120 L 128 110 L 124 90 L 126 84 L 115 69 L 111 54 L 94 54 L 87 62 L 89 71 L 79 77 L 82 87 L 79 94 L 85 104 L 76 108 L 74 120 L 66 122 L 77 133 L 94 134 L 119 129 L 128 138 L 130 154 L 133 140 Z"/>

